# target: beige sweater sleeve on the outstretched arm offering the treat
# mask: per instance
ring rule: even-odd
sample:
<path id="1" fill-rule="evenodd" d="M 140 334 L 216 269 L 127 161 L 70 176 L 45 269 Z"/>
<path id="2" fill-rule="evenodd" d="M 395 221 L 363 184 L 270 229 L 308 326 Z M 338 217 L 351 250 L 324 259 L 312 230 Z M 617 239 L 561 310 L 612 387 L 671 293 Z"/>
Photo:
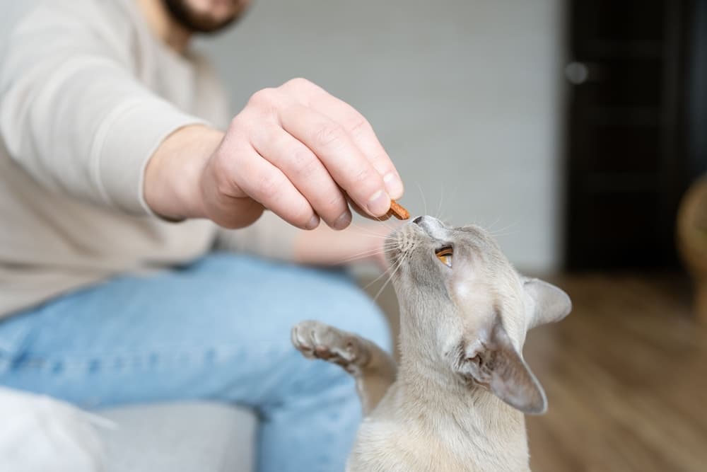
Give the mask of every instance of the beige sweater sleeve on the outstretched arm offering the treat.
<path id="1" fill-rule="evenodd" d="M 129 45 L 73 2 L 35 8 L 0 56 L 0 134 L 8 154 L 47 188 L 148 214 L 144 167 L 165 137 L 203 123 L 146 88 Z"/>

